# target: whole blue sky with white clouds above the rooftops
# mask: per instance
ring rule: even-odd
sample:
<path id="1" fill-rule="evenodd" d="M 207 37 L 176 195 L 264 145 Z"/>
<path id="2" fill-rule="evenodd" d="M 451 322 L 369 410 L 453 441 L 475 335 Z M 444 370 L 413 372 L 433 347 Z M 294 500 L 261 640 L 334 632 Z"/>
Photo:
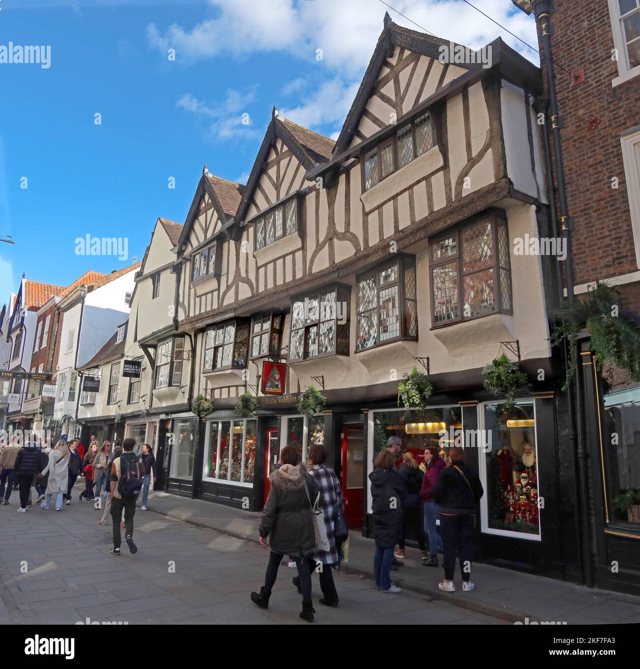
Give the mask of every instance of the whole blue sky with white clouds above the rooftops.
<path id="1" fill-rule="evenodd" d="M 440 37 L 477 48 L 501 35 L 538 62 L 461 0 L 389 4 Z M 475 4 L 536 43 L 533 19 L 510 0 Z M 0 63 L 0 237 L 16 242 L 0 243 L 0 304 L 22 272 L 68 285 L 86 270 L 110 272 L 142 258 L 156 217 L 184 223 L 204 163 L 244 183 L 274 104 L 336 136 L 385 11 L 419 29 L 379 0 L 2 0 L 1 7 L 0 47 L 49 45 L 51 62 Z M 76 237 L 87 234 L 126 237 L 128 258 L 77 256 Z"/>

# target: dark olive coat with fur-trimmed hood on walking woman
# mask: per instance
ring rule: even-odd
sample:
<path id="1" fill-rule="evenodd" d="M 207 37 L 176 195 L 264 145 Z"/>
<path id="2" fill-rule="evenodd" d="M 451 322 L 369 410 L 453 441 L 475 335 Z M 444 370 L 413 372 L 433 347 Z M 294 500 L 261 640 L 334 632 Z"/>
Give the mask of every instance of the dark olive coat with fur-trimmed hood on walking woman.
<path id="1" fill-rule="evenodd" d="M 318 486 L 307 467 L 300 463 L 294 467 L 284 464 L 269 477 L 271 487 L 262 510 L 259 533 L 270 537 L 270 547 L 276 553 L 308 555 L 316 548 L 316 533 L 311 505 L 304 490 L 315 500 Z"/>

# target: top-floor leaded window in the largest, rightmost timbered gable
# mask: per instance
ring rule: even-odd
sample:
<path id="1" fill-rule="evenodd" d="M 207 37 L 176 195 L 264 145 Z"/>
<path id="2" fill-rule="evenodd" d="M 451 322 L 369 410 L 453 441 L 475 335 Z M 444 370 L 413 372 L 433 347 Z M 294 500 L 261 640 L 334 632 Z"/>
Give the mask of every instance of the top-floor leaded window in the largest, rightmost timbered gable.
<path id="1" fill-rule="evenodd" d="M 435 133 L 429 112 L 403 124 L 391 138 L 387 137 L 365 153 L 362 161 L 362 188 L 368 191 L 396 169 L 405 167 L 433 149 L 434 145 Z"/>

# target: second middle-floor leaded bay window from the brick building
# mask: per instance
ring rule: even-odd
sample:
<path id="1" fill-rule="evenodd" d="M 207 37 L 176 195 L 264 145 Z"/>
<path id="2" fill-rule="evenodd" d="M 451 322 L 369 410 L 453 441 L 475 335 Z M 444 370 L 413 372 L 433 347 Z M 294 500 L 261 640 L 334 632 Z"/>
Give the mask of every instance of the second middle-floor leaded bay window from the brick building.
<path id="1" fill-rule="evenodd" d="M 418 338 L 413 256 L 398 256 L 358 276 L 356 290 L 356 352 Z"/>

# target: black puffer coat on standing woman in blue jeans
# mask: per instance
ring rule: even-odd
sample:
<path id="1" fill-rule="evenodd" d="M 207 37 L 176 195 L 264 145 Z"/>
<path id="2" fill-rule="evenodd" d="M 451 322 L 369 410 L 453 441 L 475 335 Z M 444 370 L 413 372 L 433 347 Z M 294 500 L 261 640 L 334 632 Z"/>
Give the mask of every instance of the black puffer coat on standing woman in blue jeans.
<path id="1" fill-rule="evenodd" d="M 398 472 L 385 467 L 373 470 L 369 480 L 376 545 L 379 548 L 393 548 L 400 537 L 407 488 Z"/>

